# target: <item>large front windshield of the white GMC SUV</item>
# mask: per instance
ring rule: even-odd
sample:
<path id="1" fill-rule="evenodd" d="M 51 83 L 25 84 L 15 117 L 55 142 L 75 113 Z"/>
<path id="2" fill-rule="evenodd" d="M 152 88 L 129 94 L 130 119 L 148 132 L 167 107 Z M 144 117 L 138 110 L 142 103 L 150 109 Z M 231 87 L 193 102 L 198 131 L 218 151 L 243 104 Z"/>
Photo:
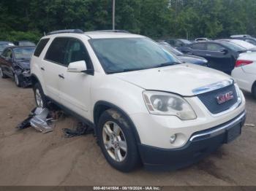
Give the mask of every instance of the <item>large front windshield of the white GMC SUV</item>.
<path id="1" fill-rule="evenodd" d="M 91 39 L 90 43 L 108 74 L 180 63 L 167 50 L 147 38 Z"/>

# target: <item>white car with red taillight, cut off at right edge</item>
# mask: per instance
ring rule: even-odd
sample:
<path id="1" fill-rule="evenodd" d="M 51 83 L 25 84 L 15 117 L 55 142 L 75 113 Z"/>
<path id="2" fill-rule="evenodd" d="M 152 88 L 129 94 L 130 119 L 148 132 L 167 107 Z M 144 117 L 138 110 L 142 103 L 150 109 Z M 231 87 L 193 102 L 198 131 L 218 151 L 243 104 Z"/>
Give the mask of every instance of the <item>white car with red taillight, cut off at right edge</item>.
<path id="1" fill-rule="evenodd" d="M 252 93 L 256 98 L 256 52 L 241 54 L 238 57 L 232 77 L 242 90 Z"/>

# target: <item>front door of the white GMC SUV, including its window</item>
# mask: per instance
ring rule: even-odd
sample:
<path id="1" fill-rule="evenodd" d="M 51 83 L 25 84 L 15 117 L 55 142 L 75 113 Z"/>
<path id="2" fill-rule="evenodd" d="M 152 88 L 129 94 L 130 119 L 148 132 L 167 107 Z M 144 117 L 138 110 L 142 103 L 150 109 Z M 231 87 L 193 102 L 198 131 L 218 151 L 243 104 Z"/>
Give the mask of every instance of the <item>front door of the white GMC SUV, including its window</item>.
<path id="1" fill-rule="evenodd" d="M 83 72 L 67 72 L 69 63 L 75 61 L 86 61 L 87 69 L 92 69 L 91 59 L 85 45 L 79 39 L 70 38 L 67 44 L 67 51 L 64 58 L 64 66 L 60 73 L 63 78 L 60 80 L 60 101 L 73 112 L 90 119 L 90 86 L 94 77 Z"/>

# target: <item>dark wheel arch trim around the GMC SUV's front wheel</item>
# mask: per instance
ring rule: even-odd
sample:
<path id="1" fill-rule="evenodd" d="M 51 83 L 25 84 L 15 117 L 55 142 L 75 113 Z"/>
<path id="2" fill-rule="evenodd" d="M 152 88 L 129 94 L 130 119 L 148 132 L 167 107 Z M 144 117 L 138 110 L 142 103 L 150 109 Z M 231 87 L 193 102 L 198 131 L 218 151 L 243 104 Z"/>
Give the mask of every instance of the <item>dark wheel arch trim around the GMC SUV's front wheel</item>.
<path id="1" fill-rule="evenodd" d="M 93 116 L 94 116 L 94 125 L 96 127 L 96 130 L 97 130 L 97 123 L 99 122 L 100 115 L 108 109 L 116 109 L 118 112 L 123 114 L 124 117 L 127 118 L 127 120 L 129 121 L 129 124 L 131 125 L 132 133 L 134 134 L 137 143 L 140 144 L 140 136 L 134 125 L 134 122 L 132 122 L 132 119 L 129 117 L 129 115 L 126 112 L 124 112 L 123 109 L 116 106 L 115 104 L 109 103 L 108 101 L 97 101 L 97 103 L 94 104 Z"/>

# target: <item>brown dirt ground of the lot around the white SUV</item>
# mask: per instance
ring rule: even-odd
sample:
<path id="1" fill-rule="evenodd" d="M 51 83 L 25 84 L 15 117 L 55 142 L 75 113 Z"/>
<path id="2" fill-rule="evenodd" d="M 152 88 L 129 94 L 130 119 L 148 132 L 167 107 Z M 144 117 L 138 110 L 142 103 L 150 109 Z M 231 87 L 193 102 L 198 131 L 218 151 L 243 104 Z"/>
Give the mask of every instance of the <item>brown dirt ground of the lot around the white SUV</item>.
<path id="1" fill-rule="evenodd" d="M 246 123 L 256 124 L 256 101 L 249 94 L 246 101 Z M 16 130 L 33 108 L 31 88 L 0 79 L 0 185 L 256 185 L 255 127 L 245 126 L 236 141 L 189 168 L 123 174 L 108 165 L 92 135 L 64 138 L 61 129 L 76 123 L 71 117 L 46 134 Z"/>

